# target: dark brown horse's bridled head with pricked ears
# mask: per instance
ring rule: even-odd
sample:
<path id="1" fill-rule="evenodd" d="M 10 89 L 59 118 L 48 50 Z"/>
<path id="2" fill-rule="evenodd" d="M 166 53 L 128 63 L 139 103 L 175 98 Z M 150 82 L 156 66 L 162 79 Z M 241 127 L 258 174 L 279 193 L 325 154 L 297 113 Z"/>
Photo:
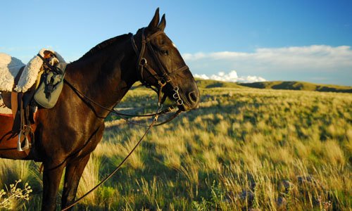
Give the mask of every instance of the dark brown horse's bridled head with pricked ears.
<path id="1" fill-rule="evenodd" d="M 199 104 L 199 90 L 193 75 L 165 34 L 165 14 L 159 23 L 159 10 L 148 27 L 138 30 L 133 40 L 138 55 L 138 75 L 146 86 L 159 91 L 177 102 L 181 110 L 191 110 Z"/>

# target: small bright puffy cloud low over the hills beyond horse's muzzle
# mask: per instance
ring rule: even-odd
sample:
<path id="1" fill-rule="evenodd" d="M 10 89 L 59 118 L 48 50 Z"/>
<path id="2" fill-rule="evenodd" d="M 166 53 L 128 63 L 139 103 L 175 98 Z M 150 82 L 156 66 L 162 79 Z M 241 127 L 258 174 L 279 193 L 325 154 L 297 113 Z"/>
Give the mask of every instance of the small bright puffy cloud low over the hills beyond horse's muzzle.
<path id="1" fill-rule="evenodd" d="M 229 73 L 225 72 L 218 72 L 217 75 L 210 75 L 207 76 L 205 74 L 195 74 L 194 77 L 198 77 L 201 79 L 213 79 L 222 82 L 265 82 L 266 80 L 263 77 L 258 76 L 242 76 L 239 77 L 237 75 L 236 70 L 231 70 Z"/>

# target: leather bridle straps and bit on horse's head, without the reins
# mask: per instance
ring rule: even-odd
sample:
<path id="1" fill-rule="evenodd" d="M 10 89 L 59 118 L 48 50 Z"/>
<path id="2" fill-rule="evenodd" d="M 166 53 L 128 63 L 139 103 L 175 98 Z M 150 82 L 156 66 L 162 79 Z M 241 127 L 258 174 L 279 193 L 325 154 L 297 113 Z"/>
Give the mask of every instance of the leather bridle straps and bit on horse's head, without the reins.
<path id="1" fill-rule="evenodd" d="M 176 75 L 177 72 L 182 72 L 184 70 L 188 70 L 189 68 L 187 65 L 184 65 L 181 68 L 178 68 L 177 70 L 173 70 L 170 72 L 165 70 L 165 68 L 163 67 L 163 65 L 161 63 L 161 60 L 158 58 L 158 56 L 156 56 L 156 51 L 154 51 L 153 46 L 151 46 L 151 42 L 150 42 L 152 39 L 154 39 L 159 34 L 165 34 L 165 33 L 163 31 L 158 31 L 158 32 L 155 32 L 154 34 L 151 34 L 149 37 L 146 37 L 145 28 L 142 28 L 141 51 L 138 50 L 136 42 L 134 41 L 134 35 L 131 34 L 132 47 L 134 49 L 134 52 L 138 56 L 137 70 L 139 70 L 139 72 L 140 72 L 140 81 L 142 82 L 142 84 L 144 84 L 144 86 L 153 89 L 151 84 L 146 82 L 146 80 L 144 79 L 144 75 L 143 75 L 144 70 L 149 72 L 149 75 L 153 76 L 156 79 L 156 81 L 158 82 L 158 87 L 157 87 L 157 90 L 156 89 L 153 89 L 153 90 L 156 91 L 156 93 L 158 94 L 158 98 L 159 98 L 158 103 L 159 104 L 160 103 L 162 104 L 166 99 L 165 94 L 163 97 L 161 96 L 163 87 L 165 87 L 166 84 L 170 84 L 170 86 L 172 87 L 172 91 L 174 91 L 172 98 L 175 99 L 177 106 L 181 106 L 184 104 L 184 101 L 182 101 L 182 99 L 180 97 L 179 87 L 177 87 L 175 82 L 172 81 L 172 76 Z M 158 69 L 161 72 L 160 75 L 155 70 L 153 70 L 153 68 L 151 68 L 151 66 L 148 64 L 146 58 L 144 57 L 144 53 L 145 53 L 146 48 L 149 49 L 149 51 L 151 52 L 151 56 L 152 56 L 154 62 L 156 63 L 156 65 L 158 66 Z"/>

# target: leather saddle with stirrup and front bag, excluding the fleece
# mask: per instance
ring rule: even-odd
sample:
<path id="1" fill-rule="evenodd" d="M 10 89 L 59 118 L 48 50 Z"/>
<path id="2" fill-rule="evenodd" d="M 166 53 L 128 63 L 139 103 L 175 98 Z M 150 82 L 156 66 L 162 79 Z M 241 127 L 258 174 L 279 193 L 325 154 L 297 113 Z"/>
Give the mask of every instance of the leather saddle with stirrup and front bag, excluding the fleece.
<path id="1" fill-rule="evenodd" d="M 14 136 L 18 136 L 18 151 L 30 149 L 32 143 L 28 138 L 34 142 L 31 125 L 35 123 L 37 108 L 54 107 L 63 86 L 66 63 L 60 63 L 52 51 L 44 51 L 44 56 L 40 53 L 37 56 L 43 60 L 37 82 L 25 92 L 16 91 L 15 87 L 18 87 L 20 77 L 25 69 L 23 66 L 15 76 L 13 91 L 1 93 L 5 106 L 12 110 L 12 133 Z"/>

